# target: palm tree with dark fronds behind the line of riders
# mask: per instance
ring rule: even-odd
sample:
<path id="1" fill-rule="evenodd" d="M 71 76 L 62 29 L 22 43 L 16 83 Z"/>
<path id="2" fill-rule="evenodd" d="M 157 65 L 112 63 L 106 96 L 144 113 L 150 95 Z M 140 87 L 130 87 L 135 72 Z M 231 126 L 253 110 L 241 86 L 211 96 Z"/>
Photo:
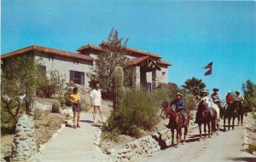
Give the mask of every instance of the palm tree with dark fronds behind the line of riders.
<path id="1" fill-rule="evenodd" d="M 204 84 L 201 79 L 193 77 L 193 78 L 187 79 L 182 87 L 192 95 L 196 96 L 196 95 L 200 95 L 201 91 L 204 90 L 206 86 L 207 85 Z"/>

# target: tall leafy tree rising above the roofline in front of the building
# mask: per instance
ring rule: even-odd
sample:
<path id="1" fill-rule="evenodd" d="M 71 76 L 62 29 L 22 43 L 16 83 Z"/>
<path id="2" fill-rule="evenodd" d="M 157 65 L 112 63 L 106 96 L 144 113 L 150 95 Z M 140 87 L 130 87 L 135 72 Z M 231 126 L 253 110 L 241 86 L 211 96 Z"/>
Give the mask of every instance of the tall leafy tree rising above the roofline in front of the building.
<path id="1" fill-rule="evenodd" d="M 125 46 L 128 39 L 119 38 L 119 33 L 111 30 L 107 42 L 102 42 L 102 53 L 96 61 L 95 76 L 92 79 L 97 80 L 103 90 L 108 94 L 112 92 L 112 79 L 115 67 L 123 67 L 125 72 L 125 85 L 131 84 L 131 68 L 127 67 L 130 61 L 126 56 L 128 54 Z M 126 67 L 126 68 L 125 68 Z"/>

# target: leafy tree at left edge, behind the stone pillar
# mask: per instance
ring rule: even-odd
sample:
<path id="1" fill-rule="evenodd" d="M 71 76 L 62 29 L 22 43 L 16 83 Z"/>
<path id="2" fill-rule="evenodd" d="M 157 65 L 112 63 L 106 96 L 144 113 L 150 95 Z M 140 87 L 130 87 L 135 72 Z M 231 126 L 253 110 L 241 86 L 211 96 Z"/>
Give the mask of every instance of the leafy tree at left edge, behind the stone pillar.
<path id="1" fill-rule="evenodd" d="M 32 93 L 44 83 L 44 71 L 39 60 L 30 56 L 18 56 L 3 61 L 1 107 L 17 122 L 24 102 L 22 95 Z"/>

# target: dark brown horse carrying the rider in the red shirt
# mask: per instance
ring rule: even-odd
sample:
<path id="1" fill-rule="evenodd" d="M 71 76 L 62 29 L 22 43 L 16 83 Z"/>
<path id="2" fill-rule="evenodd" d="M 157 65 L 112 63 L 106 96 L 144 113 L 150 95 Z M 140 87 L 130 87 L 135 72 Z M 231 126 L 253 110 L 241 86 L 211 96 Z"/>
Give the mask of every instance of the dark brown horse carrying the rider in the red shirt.
<path id="1" fill-rule="evenodd" d="M 244 107 L 243 104 L 241 104 L 240 101 L 233 101 L 230 106 L 228 106 L 224 110 L 224 131 L 226 130 L 226 119 L 228 119 L 228 130 L 230 130 L 230 120 L 232 119 L 232 130 L 234 130 L 235 126 L 235 119 L 237 118 L 237 126 L 240 124 L 241 120 L 241 125 L 243 124 L 243 116 L 244 116 Z"/>

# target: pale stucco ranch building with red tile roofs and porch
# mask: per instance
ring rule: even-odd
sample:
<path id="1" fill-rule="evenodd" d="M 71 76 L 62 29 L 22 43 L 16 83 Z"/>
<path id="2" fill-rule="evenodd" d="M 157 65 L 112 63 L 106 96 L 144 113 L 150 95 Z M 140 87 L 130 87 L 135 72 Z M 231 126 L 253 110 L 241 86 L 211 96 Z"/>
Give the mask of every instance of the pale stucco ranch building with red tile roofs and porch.
<path id="1" fill-rule="evenodd" d="M 32 55 L 42 60 L 46 72 L 58 70 L 65 76 L 67 82 L 75 79 L 77 84 L 89 88 L 90 73 L 96 67 L 97 56 L 102 52 L 103 44 L 84 45 L 77 49 L 78 53 L 32 45 L 1 55 L 1 61 L 4 64 L 4 61 L 16 55 Z M 168 83 L 167 68 L 172 65 L 167 61 L 161 61 L 160 55 L 128 47 L 125 49 L 129 54 L 129 66 L 134 67 L 136 72 L 136 80 L 132 83 L 135 87 L 144 86 L 147 90 L 154 90 L 159 83 Z"/>

